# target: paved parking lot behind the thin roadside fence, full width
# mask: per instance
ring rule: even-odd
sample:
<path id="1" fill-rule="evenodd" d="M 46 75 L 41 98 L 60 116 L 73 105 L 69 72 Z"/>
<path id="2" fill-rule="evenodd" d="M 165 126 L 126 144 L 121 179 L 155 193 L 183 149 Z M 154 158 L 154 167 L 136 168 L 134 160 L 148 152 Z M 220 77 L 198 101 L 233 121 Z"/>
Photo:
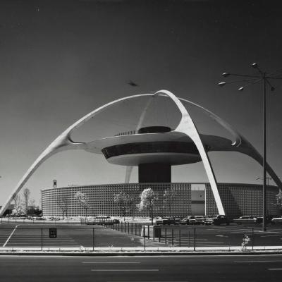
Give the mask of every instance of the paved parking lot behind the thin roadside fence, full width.
<path id="1" fill-rule="evenodd" d="M 17 228 L 16 228 L 17 226 Z M 49 228 L 57 228 L 57 238 L 49 238 Z M 147 240 L 147 246 L 176 245 L 182 247 L 240 246 L 247 235 L 249 246 L 282 245 L 282 226 L 269 226 L 266 232 L 254 226 L 165 226 L 161 228 L 161 238 L 155 242 Z M 123 227 L 124 228 L 124 227 Z M 195 229 L 196 228 L 196 229 Z M 252 229 L 253 228 L 253 229 Z M 128 229 L 127 229 L 128 231 Z M 93 233 L 95 247 L 140 247 L 143 238 L 137 228 L 130 233 L 114 231 L 101 226 L 48 225 L 48 224 L 0 224 L 1 247 L 92 247 Z M 196 231 L 194 236 L 194 231 Z M 133 234 L 131 234 L 133 233 Z M 137 235 L 135 235 L 135 233 Z"/>

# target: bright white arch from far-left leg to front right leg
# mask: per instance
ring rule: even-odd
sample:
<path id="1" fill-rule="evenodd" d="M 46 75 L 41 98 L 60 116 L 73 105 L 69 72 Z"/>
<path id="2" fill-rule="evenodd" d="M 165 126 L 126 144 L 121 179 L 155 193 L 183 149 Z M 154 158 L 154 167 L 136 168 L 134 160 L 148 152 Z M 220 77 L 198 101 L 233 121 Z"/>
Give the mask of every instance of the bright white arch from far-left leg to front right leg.
<path id="1" fill-rule="evenodd" d="M 51 144 L 47 147 L 47 149 L 45 149 L 44 152 L 42 152 L 42 154 L 39 155 L 39 157 L 35 160 L 32 166 L 30 166 L 30 168 L 27 169 L 27 172 L 25 173 L 23 178 L 20 179 L 20 181 L 16 185 L 16 188 L 13 190 L 13 192 L 11 192 L 11 195 L 9 195 L 8 200 L 6 200 L 5 204 L 1 208 L 0 216 L 4 214 L 8 205 L 13 200 L 13 195 L 18 194 L 18 192 L 20 191 L 21 188 L 23 188 L 23 185 L 25 185 L 25 183 L 30 178 L 30 176 L 32 176 L 32 174 L 37 170 L 40 164 L 42 164 L 45 160 L 49 159 L 49 157 L 51 157 L 53 154 L 56 154 L 58 152 L 62 152 L 68 149 L 85 149 L 85 147 L 87 147 L 86 142 L 73 142 L 71 140 L 71 133 L 73 132 L 73 130 L 75 130 L 76 128 L 79 128 L 82 124 L 89 121 L 90 118 L 93 118 L 99 112 L 104 111 L 104 109 L 110 106 L 113 106 L 114 104 L 118 102 L 122 102 L 125 99 L 133 99 L 133 98 L 142 97 L 142 96 L 154 96 L 154 95 L 159 95 L 161 93 L 166 94 L 168 97 L 170 97 L 173 100 L 173 102 L 176 104 L 176 106 L 178 106 L 178 109 L 180 110 L 182 117 L 181 117 L 180 123 L 178 124 L 176 129 L 173 131 L 177 131 L 180 133 L 184 133 L 185 135 L 188 135 L 192 139 L 192 141 L 195 143 L 200 153 L 200 156 L 202 158 L 204 169 L 207 173 L 207 177 L 209 178 L 209 183 L 212 187 L 212 192 L 214 193 L 214 199 L 216 201 L 216 206 L 219 211 L 219 214 L 225 214 L 223 205 L 221 202 L 221 198 L 219 196 L 219 191 L 217 189 L 216 178 L 214 176 L 214 171 L 212 170 L 212 165 L 210 163 L 207 152 L 204 149 L 204 145 L 202 144 L 197 128 L 192 121 L 192 118 L 190 117 L 190 115 L 188 114 L 188 111 L 185 109 L 185 107 L 180 102 L 180 100 L 173 93 L 167 90 L 160 90 L 155 93 L 137 94 L 137 95 L 132 95 L 128 97 L 123 97 L 113 102 L 109 102 L 108 104 L 100 106 L 98 109 L 91 111 L 89 114 L 87 114 L 86 116 L 83 116 L 78 121 L 73 123 L 73 125 L 71 125 L 65 131 L 63 131 L 61 135 L 56 137 L 56 139 L 53 142 L 51 142 Z"/>

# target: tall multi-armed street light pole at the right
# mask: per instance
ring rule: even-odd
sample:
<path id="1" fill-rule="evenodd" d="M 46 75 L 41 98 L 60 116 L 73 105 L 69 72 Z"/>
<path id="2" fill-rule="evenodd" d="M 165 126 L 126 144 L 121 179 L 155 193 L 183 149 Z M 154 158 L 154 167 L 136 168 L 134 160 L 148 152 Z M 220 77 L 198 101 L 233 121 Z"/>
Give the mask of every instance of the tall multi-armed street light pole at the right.
<path id="1" fill-rule="evenodd" d="M 263 185 L 262 185 L 262 214 L 263 214 L 263 221 L 262 221 L 262 229 L 263 231 L 266 231 L 266 83 L 270 86 L 270 90 L 274 91 L 275 88 L 271 85 L 269 82 L 269 79 L 278 79 L 282 80 L 282 73 L 281 70 L 278 70 L 274 73 L 265 73 L 262 72 L 257 65 L 257 63 L 252 63 L 252 68 L 257 69 L 259 71 L 259 75 L 245 75 L 245 74 L 238 74 L 238 73 L 222 73 L 224 78 L 227 78 L 228 76 L 239 76 L 242 77 L 242 80 L 235 80 L 231 82 L 219 82 L 218 85 L 220 87 L 223 87 L 226 84 L 234 83 L 234 82 L 245 82 L 249 83 L 249 85 L 253 85 L 259 81 L 263 82 L 263 103 L 262 103 L 262 118 L 263 118 L 263 125 L 262 125 L 262 131 L 263 131 Z M 278 75 L 278 77 L 277 77 Z M 247 85 L 248 86 L 248 85 Z M 239 87 L 238 91 L 243 91 L 245 87 Z"/>

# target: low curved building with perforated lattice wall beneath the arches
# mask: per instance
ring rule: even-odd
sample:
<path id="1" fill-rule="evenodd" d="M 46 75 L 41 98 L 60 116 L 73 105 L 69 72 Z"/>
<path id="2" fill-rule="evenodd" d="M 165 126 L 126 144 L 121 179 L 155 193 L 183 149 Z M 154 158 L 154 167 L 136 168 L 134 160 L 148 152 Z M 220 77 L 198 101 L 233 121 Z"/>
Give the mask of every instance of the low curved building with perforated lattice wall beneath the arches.
<path id="1" fill-rule="evenodd" d="M 209 183 L 121 183 L 104 185 L 82 185 L 42 190 L 42 210 L 44 216 L 123 216 L 114 195 L 125 192 L 135 200 L 135 206 L 128 209 L 125 216 L 149 216 L 139 211 L 136 204 L 146 188 L 157 193 L 154 216 L 188 216 L 219 214 Z M 262 216 L 262 185 L 218 183 L 219 194 L 226 215 L 231 219 L 243 215 Z M 171 204 L 164 202 L 164 192 L 175 191 Z M 75 198 L 82 192 L 87 199 L 87 209 Z M 278 188 L 267 188 L 267 214 L 276 215 Z"/>

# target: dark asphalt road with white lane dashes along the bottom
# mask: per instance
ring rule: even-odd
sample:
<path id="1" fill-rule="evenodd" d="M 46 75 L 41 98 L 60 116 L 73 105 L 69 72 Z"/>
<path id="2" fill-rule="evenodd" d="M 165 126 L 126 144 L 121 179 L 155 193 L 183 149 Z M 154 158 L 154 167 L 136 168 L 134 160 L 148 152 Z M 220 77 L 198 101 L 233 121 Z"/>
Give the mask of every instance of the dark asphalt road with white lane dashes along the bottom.
<path id="1" fill-rule="evenodd" d="M 273 282 L 281 274 L 281 255 L 0 257 L 1 282 Z"/>

